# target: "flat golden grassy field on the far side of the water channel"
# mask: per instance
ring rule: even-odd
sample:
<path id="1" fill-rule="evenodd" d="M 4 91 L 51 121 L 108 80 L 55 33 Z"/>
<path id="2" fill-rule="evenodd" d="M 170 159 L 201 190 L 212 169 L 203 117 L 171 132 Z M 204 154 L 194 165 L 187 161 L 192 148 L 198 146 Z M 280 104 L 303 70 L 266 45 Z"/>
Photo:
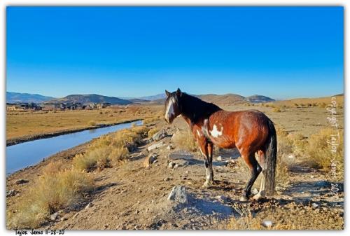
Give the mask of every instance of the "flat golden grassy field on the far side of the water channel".
<path id="1" fill-rule="evenodd" d="M 121 123 L 157 115 L 158 106 L 117 106 L 81 111 L 7 111 L 6 138 L 79 130 L 101 124 Z"/>

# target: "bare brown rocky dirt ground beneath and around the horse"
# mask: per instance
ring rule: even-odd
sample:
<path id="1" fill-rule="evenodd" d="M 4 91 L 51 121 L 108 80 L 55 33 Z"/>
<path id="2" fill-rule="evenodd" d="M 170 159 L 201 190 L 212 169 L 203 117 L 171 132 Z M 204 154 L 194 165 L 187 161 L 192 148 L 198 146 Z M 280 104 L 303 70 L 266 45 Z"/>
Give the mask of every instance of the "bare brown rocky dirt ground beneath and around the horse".
<path id="1" fill-rule="evenodd" d="M 229 110 L 251 108 L 225 107 Z M 318 107 L 292 108 L 279 113 L 272 112 L 271 108 L 258 109 L 288 132 L 302 132 L 307 137 L 327 125 L 327 111 Z M 59 211 L 57 220 L 48 221 L 43 229 L 228 229 L 232 218 L 243 217 L 237 210 L 237 204 L 249 207 L 254 216 L 271 220 L 272 229 L 277 225 L 279 229 L 344 228 L 343 183 L 330 181 L 327 173 L 295 162 L 290 169 L 288 188 L 260 202 L 240 202 L 239 197 L 247 180 L 235 165 L 228 165 L 239 158 L 237 151 L 216 150 L 215 184 L 211 188 L 202 188 L 205 170 L 201 155 L 184 152 L 171 139 L 178 128 L 188 128 L 186 123 L 182 118 L 177 118 L 172 125 L 163 121 L 155 125 L 167 130 L 168 137 L 140 146 L 132 153 L 130 160 L 121 165 L 101 172 L 90 172 L 96 184 L 95 190 L 73 206 Z M 155 143 L 164 144 L 147 151 Z M 73 155 L 83 152 L 88 145 L 57 153 L 45 162 L 8 176 L 6 190 L 15 189 L 17 194 L 6 197 L 6 211 L 15 211 L 15 202 L 25 197 L 26 189 L 35 182 L 43 166 L 57 160 L 70 162 Z M 168 148 L 169 145 L 174 149 Z M 169 168 L 169 154 L 174 153 L 183 158 L 173 160 L 178 167 Z M 149 155 L 156 155 L 157 162 L 145 167 L 144 160 Z M 218 155 L 221 155 L 221 160 L 218 160 Z M 29 182 L 18 185 L 15 183 L 18 179 Z M 336 196 L 331 193 L 332 184 L 338 185 Z M 174 186 L 186 188 L 186 204 L 167 200 Z"/>

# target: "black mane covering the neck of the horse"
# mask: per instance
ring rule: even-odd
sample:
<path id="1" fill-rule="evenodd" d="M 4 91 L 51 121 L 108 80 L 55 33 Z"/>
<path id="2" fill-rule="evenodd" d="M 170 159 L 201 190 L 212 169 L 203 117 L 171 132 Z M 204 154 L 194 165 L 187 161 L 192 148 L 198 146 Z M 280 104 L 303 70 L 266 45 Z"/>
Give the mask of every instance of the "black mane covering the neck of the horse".
<path id="1" fill-rule="evenodd" d="M 215 104 L 204 102 L 198 97 L 188 95 L 185 92 L 182 92 L 179 97 L 179 103 L 183 116 L 189 118 L 192 124 L 197 123 L 200 118 L 209 118 L 212 113 L 222 110 Z"/>

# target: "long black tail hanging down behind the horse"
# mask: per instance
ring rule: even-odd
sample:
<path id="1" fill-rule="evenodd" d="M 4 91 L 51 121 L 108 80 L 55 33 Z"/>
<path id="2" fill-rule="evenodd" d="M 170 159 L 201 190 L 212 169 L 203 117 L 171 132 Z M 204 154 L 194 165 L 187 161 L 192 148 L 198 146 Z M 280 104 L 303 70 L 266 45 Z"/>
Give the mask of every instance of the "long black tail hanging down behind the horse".
<path id="1" fill-rule="evenodd" d="M 277 157 L 277 137 L 274 123 L 269 120 L 269 136 L 266 145 L 266 170 L 265 170 L 265 190 L 266 195 L 274 194 L 274 177 L 276 174 L 276 157 Z"/>

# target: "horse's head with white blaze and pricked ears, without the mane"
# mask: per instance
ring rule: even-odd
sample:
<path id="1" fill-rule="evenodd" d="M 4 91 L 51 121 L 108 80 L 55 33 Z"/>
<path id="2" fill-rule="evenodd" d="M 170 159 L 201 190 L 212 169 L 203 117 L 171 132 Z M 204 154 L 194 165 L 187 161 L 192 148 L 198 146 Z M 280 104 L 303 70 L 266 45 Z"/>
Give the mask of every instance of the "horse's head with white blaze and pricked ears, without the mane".
<path id="1" fill-rule="evenodd" d="M 165 120 L 171 124 L 173 120 L 181 115 L 181 104 L 179 100 L 182 96 L 181 90 L 178 88 L 175 92 L 165 90 L 167 99 L 165 100 Z"/>

